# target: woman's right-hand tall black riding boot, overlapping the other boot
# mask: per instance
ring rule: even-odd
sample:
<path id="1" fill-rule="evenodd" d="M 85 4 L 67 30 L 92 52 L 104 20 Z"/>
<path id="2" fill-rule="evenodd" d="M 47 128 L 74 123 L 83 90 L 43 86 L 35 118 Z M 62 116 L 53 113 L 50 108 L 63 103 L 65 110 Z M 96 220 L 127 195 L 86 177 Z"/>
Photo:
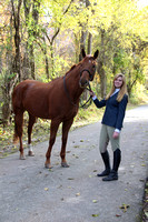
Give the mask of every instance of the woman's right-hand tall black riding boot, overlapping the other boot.
<path id="1" fill-rule="evenodd" d="M 114 152 L 114 167 L 112 170 L 110 171 L 109 175 L 107 178 L 103 178 L 102 181 L 112 181 L 112 180 L 118 180 L 118 168 L 121 161 L 121 151 L 117 149 Z"/>

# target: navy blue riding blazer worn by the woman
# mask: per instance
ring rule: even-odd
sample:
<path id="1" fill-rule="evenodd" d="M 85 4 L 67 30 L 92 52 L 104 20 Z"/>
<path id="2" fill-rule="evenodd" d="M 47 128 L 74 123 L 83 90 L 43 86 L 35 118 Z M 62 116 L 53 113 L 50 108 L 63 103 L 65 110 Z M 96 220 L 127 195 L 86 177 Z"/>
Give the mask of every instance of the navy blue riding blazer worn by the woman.
<path id="1" fill-rule="evenodd" d="M 125 94 L 120 102 L 116 100 L 117 95 L 118 92 L 111 95 L 108 100 L 103 99 L 99 101 L 96 99 L 93 102 L 97 108 L 106 107 L 101 123 L 121 130 L 128 103 L 128 95 Z"/>

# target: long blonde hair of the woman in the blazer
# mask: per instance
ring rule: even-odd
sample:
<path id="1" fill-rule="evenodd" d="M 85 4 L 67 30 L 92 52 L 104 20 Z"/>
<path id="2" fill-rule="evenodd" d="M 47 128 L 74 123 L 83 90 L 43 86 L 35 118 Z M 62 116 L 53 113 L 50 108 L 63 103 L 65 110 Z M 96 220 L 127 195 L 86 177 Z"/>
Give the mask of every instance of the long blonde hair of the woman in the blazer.
<path id="1" fill-rule="evenodd" d="M 122 100 L 124 95 L 127 94 L 126 77 L 122 73 L 118 73 L 118 74 L 115 75 L 115 78 L 112 80 L 112 88 L 111 88 L 110 92 L 107 94 L 106 100 L 108 100 L 110 98 L 110 95 L 115 92 L 115 90 L 116 90 L 115 80 L 117 80 L 119 77 L 122 78 L 122 85 L 121 85 L 120 91 L 118 93 L 117 101 L 120 102 Z"/>

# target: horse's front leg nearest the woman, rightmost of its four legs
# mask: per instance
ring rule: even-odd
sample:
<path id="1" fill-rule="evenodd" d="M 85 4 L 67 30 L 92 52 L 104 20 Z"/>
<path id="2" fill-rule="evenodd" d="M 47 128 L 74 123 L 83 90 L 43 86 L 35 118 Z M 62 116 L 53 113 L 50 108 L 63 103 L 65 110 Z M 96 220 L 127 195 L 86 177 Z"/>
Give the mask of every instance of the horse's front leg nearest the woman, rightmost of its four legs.
<path id="1" fill-rule="evenodd" d="M 61 167 L 63 168 L 69 168 L 66 161 L 66 145 L 67 145 L 68 132 L 70 130 L 72 122 L 73 122 L 73 118 L 70 120 L 63 121 L 62 123 L 62 144 L 61 144 L 60 157 L 61 157 Z"/>

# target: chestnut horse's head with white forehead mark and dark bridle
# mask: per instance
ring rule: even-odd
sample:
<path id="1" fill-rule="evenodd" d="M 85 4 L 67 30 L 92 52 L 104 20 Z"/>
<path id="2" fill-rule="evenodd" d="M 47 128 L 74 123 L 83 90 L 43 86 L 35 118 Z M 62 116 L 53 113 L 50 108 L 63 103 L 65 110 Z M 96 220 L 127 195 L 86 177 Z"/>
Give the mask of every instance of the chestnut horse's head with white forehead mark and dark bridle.
<path id="1" fill-rule="evenodd" d="M 86 56 L 85 50 L 82 49 L 83 60 L 80 62 L 80 88 L 86 88 L 89 85 L 89 81 L 93 80 L 96 72 L 96 59 L 99 54 L 97 50 L 93 56 Z"/>

